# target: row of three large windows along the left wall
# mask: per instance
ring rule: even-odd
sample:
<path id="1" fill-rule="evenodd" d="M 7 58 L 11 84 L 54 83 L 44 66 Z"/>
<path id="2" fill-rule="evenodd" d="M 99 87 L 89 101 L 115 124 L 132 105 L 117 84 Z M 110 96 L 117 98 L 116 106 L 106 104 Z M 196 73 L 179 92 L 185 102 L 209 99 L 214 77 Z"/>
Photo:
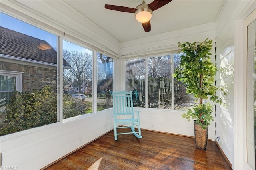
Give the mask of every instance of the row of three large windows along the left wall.
<path id="1" fill-rule="evenodd" d="M 114 59 L 0 15 L 1 136 L 112 107 Z"/>

